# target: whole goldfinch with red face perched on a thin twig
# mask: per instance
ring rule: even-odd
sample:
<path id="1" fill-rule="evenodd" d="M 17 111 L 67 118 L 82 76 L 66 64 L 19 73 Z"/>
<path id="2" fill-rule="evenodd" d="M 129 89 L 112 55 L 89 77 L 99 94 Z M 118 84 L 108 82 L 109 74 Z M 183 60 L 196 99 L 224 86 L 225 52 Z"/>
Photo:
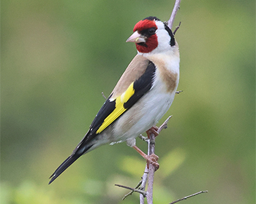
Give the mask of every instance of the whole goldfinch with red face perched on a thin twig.
<path id="1" fill-rule="evenodd" d="M 127 42 L 137 55 L 127 66 L 72 154 L 50 176 L 49 184 L 80 156 L 103 144 L 127 142 L 144 158 L 135 138 L 154 127 L 173 103 L 179 81 L 178 43 L 165 22 L 150 16 L 140 20 Z M 155 162 L 156 160 L 151 160 Z"/>

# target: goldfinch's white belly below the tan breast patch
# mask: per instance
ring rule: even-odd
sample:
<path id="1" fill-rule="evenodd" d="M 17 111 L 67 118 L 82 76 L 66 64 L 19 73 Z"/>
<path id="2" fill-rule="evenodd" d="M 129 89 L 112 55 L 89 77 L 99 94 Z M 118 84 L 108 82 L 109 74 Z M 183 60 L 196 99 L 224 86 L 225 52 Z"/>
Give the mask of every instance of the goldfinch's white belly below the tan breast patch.
<path id="1" fill-rule="evenodd" d="M 121 142 L 134 139 L 157 124 L 170 108 L 176 94 L 176 89 L 172 93 L 166 93 L 162 88 L 161 85 L 155 84 L 116 121 L 111 141 Z"/>

